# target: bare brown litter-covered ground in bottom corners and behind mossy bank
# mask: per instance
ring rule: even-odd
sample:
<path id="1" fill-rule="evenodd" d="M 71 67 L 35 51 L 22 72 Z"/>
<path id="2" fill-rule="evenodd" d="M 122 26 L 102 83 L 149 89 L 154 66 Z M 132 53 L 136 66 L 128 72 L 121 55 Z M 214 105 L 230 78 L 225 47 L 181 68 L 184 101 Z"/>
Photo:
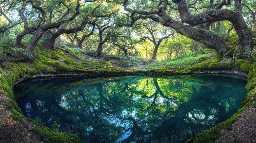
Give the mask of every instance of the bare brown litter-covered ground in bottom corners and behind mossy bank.
<path id="1" fill-rule="evenodd" d="M 65 55 L 69 55 L 65 53 Z M 210 54 L 212 56 L 212 54 Z M 70 57 L 76 62 L 79 60 Z M 83 58 L 83 60 L 90 61 L 101 61 L 101 59 L 96 59 L 93 57 Z M 141 65 L 136 66 L 122 66 L 123 64 L 119 60 L 110 60 L 108 61 L 114 67 L 118 67 L 124 70 L 134 70 L 134 69 L 144 69 L 147 68 L 150 64 L 155 63 L 150 61 Z M 33 68 L 33 63 L 26 63 L 28 68 Z M 63 63 L 62 63 L 63 64 Z M 4 91 L 2 91 L 4 92 Z M 4 95 L 0 94 L 0 143 L 19 143 L 19 142 L 31 142 L 39 143 L 37 136 L 29 131 L 34 124 L 28 122 L 26 119 L 22 119 L 27 125 L 12 119 L 12 112 L 5 105 L 10 99 Z M 256 108 L 255 104 L 251 105 L 247 110 L 241 112 L 240 118 L 234 122 L 232 125 L 231 131 L 221 131 L 223 136 L 217 139 L 216 143 L 242 143 L 242 142 L 256 142 Z"/>

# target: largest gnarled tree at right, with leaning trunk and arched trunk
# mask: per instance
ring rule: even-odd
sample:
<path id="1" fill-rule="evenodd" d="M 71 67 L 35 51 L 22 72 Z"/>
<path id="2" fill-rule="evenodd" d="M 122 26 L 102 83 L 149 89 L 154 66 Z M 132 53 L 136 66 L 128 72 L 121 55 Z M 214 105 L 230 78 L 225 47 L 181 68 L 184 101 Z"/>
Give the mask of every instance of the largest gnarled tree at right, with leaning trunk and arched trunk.
<path id="1" fill-rule="evenodd" d="M 198 1 L 196 0 L 195 3 L 197 2 Z M 127 21 L 123 25 L 132 26 L 134 22 L 139 19 L 151 18 L 152 20 L 159 22 L 163 26 L 172 27 L 177 31 L 177 33 L 180 33 L 190 39 L 198 41 L 208 46 L 209 48 L 215 49 L 219 55 L 225 56 L 227 54 L 227 43 L 224 41 L 224 37 L 210 30 L 205 30 L 200 27 L 193 27 L 201 24 L 228 20 L 233 24 L 239 36 L 239 40 L 241 43 L 241 54 L 249 55 L 251 52 L 251 48 L 254 45 L 254 42 L 252 40 L 252 33 L 243 19 L 241 0 L 234 1 L 234 10 L 223 9 L 224 5 L 231 4 L 229 0 L 224 0 L 221 3 L 216 4 L 214 4 L 213 0 L 211 0 L 210 2 L 211 3 L 207 3 L 203 8 L 214 6 L 219 7 L 219 9 L 210 9 L 203 12 L 196 11 L 194 12 L 194 14 L 192 14 L 190 11 L 192 6 L 188 5 L 186 3 L 186 0 L 172 0 L 172 2 L 169 2 L 168 0 L 157 2 L 143 1 L 143 3 L 136 9 L 129 8 L 129 6 L 133 4 L 133 2 L 129 0 L 124 0 L 122 5 L 124 6 L 124 10 L 130 12 L 130 15 L 126 15 L 128 15 L 131 20 Z M 176 7 L 173 7 L 173 5 L 175 5 Z M 195 6 L 196 5 L 193 5 L 194 8 Z M 172 17 L 170 12 L 173 10 L 178 10 L 181 22 L 175 20 Z M 189 25 L 185 25 L 182 23 L 186 23 Z"/>

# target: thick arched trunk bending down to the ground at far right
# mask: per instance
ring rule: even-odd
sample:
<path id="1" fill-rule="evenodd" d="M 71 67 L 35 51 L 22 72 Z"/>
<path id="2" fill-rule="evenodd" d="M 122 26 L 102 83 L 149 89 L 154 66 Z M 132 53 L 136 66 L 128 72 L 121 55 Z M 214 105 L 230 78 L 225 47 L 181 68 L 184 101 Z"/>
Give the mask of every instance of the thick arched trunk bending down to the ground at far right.
<path id="1" fill-rule="evenodd" d="M 202 23 L 208 23 L 208 22 L 223 21 L 223 20 L 230 21 L 233 24 L 233 26 L 239 36 L 239 40 L 241 43 L 240 44 L 241 55 L 248 56 L 250 54 L 251 48 L 252 48 L 254 42 L 252 40 L 252 33 L 249 30 L 249 28 L 247 27 L 247 25 L 243 19 L 241 0 L 234 0 L 235 1 L 234 11 L 229 10 L 229 9 L 218 9 L 218 10 L 213 9 L 213 10 L 209 10 L 209 11 L 204 11 L 197 15 L 192 15 L 192 14 L 188 13 L 188 7 L 186 4 L 186 0 L 172 0 L 172 1 L 175 1 L 178 4 L 178 9 L 179 9 L 179 13 L 180 13 L 182 22 L 185 22 L 191 26 L 199 25 Z M 204 33 L 204 34 L 206 34 L 206 33 Z M 212 34 L 210 33 L 209 36 L 210 35 L 212 35 Z M 203 36 L 203 37 L 205 37 L 205 36 Z M 193 40 L 195 40 L 195 39 L 193 39 Z M 214 40 L 213 38 L 210 38 L 210 41 L 213 41 L 213 40 Z M 201 42 L 201 40 L 198 42 Z M 220 42 L 220 41 L 217 40 L 217 42 Z M 209 42 L 207 42 L 207 43 L 209 43 Z M 203 42 L 203 44 L 205 44 L 205 42 Z M 212 43 L 212 44 L 214 44 L 214 43 Z M 212 44 L 209 48 L 214 46 Z M 223 51 L 220 51 L 219 53 L 223 53 Z"/>

